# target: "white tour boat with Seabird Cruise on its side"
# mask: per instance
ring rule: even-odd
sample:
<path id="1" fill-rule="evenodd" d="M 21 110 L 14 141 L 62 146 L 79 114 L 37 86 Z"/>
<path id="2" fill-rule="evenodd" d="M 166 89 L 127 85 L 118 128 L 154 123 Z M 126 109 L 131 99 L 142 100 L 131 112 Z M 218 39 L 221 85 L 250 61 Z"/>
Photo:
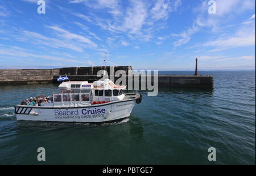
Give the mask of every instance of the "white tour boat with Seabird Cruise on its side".
<path id="1" fill-rule="evenodd" d="M 109 79 L 94 81 L 63 81 L 52 103 L 40 106 L 16 105 L 17 120 L 54 122 L 113 122 L 128 118 L 135 103 L 142 101 L 139 93 L 125 93 L 126 85 L 115 85 Z"/>

